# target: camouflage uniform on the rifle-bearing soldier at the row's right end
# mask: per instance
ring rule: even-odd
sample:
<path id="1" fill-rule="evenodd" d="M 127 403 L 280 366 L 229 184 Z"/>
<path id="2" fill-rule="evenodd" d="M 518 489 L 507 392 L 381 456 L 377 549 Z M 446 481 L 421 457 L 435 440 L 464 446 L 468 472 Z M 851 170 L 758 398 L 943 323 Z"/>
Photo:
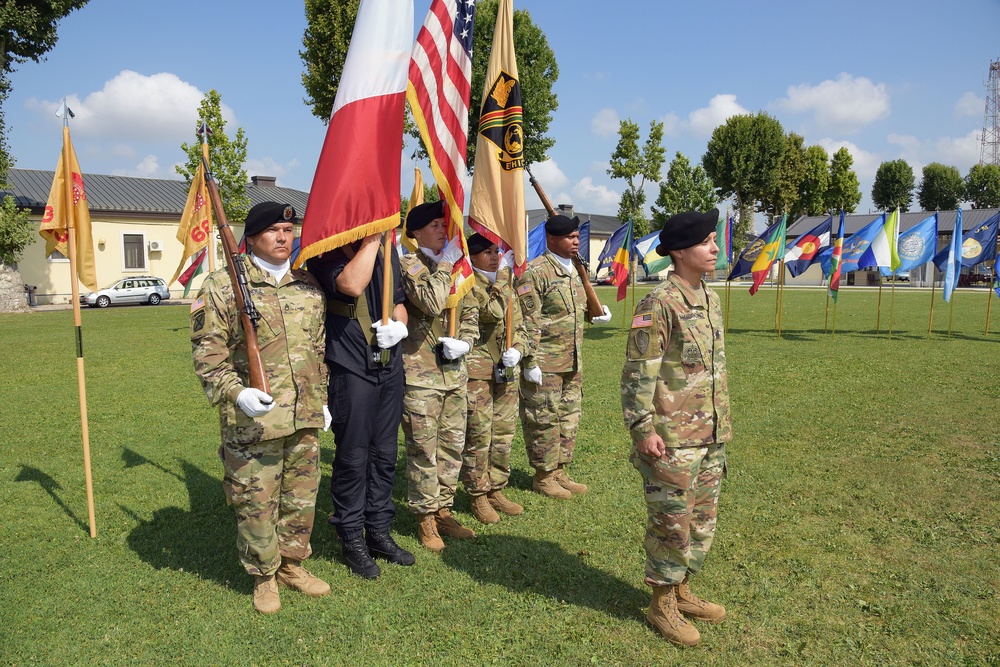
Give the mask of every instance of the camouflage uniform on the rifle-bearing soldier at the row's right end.
<path id="1" fill-rule="evenodd" d="M 572 462 L 583 404 L 583 323 L 587 295 L 576 270 L 549 251 L 528 263 L 517 281 L 527 348 L 521 368 L 538 366 L 542 384 L 521 374 L 521 428 L 528 463 L 551 471 Z"/>

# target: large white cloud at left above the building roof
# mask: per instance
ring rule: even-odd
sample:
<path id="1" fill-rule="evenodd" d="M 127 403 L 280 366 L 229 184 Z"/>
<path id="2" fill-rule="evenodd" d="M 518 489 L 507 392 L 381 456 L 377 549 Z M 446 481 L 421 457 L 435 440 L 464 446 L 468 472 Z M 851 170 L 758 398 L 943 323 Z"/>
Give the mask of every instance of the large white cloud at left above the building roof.
<path id="1" fill-rule="evenodd" d="M 145 76 L 122 70 L 101 90 L 83 99 L 69 96 L 67 102 L 76 113 L 73 132 L 79 136 L 179 142 L 194 138 L 198 105 L 204 96 L 176 74 L 161 72 Z M 26 106 L 53 115 L 59 102 L 31 98 Z M 225 104 L 222 117 L 227 123 L 235 123 L 232 109 Z"/>

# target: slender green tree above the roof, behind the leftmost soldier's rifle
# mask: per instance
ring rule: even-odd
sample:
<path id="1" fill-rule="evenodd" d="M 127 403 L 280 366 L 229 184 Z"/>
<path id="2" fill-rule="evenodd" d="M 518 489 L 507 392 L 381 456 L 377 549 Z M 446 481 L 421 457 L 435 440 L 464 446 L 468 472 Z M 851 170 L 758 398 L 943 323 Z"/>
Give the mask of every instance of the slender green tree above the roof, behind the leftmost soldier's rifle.
<path id="1" fill-rule="evenodd" d="M 205 94 L 198 106 L 198 125 L 204 120 L 212 134 L 208 137 L 208 155 L 211 160 L 212 175 L 219 185 L 219 195 L 225 208 L 226 218 L 233 223 L 246 220 L 250 210 L 250 196 L 247 194 L 247 172 L 243 163 L 247 159 L 247 137 L 243 128 L 236 129 L 235 139 L 226 135 L 226 121 L 222 118 L 222 97 L 214 88 Z M 188 183 L 201 164 L 201 137 L 196 133 L 191 144 L 184 142 L 181 150 L 187 153 L 187 163 L 177 165 L 177 173 Z"/>

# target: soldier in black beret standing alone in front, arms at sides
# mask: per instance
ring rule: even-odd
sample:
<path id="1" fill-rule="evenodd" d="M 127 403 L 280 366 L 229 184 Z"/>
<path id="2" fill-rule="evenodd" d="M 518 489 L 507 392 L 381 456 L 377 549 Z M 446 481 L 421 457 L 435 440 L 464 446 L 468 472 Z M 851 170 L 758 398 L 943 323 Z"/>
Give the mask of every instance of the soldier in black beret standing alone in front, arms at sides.
<path id="1" fill-rule="evenodd" d="M 679 213 L 657 252 L 674 271 L 635 309 L 622 370 L 631 461 L 646 496 L 646 618 L 669 641 L 694 646 L 684 617 L 718 623 L 726 610 L 691 592 L 715 536 L 719 487 L 732 439 L 719 297 L 702 280 L 715 269 L 717 209 Z"/>

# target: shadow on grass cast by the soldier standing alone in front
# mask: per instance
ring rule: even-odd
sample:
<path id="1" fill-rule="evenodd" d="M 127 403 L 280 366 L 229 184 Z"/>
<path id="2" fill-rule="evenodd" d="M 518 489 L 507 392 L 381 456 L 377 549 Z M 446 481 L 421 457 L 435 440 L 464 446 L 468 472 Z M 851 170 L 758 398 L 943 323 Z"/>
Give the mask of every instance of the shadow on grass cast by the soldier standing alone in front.
<path id="1" fill-rule="evenodd" d="M 635 621 L 649 604 L 648 591 L 594 568 L 585 557 L 547 540 L 519 535 L 450 540 L 441 558 L 480 583 L 589 607 L 627 621 Z"/>

